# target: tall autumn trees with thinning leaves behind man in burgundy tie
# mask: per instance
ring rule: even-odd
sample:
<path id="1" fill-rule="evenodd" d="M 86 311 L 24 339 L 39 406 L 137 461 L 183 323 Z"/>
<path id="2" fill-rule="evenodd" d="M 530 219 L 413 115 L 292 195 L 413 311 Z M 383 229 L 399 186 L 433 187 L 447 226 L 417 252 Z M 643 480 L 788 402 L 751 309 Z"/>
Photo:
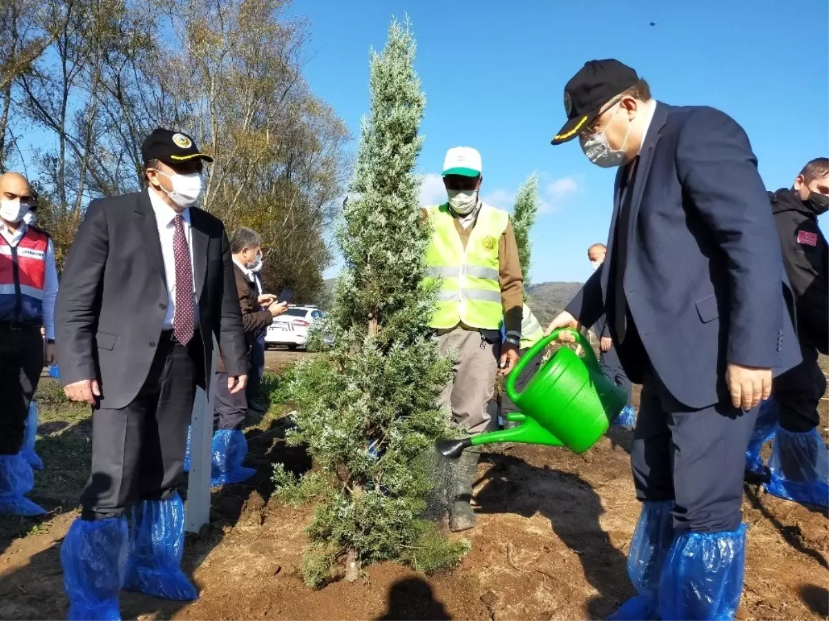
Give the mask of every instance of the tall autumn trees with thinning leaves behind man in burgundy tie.
<path id="1" fill-rule="evenodd" d="M 0 168 L 29 176 L 59 265 L 85 206 L 142 187 L 158 126 L 216 158 L 204 207 L 262 233 L 264 281 L 322 293 L 350 136 L 302 76 L 284 0 L 0 0 Z"/>

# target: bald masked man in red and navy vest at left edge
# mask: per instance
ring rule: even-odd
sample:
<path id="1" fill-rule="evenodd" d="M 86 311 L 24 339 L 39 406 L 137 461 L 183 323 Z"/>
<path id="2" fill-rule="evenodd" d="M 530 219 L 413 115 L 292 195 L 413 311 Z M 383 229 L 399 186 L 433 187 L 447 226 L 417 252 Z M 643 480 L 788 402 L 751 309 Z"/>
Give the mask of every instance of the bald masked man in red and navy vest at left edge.
<path id="1" fill-rule="evenodd" d="M 0 176 L 0 514 L 46 513 L 23 496 L 34 486 L 20 450 L 32 395 L 46 359 L 55 360 L 55 248 L 37 229 L 37 201 L 17 172 Z"/>

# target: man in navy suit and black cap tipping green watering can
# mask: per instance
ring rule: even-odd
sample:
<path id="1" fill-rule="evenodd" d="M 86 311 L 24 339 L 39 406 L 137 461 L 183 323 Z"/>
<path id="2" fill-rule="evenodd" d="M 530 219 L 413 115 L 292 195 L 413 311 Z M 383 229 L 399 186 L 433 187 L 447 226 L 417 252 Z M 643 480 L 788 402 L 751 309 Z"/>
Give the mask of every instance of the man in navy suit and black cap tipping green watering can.
<path id="1" fill-rule="evenodd" d="M 733 619 L 744 451 L 773 376 L 800 361 L 768 195 L 733 119 L 657 103 L 618 60 L 584 65 L 565 112 L 553 144 L 579 138 L 618 172 L 604 267 L 550 329 L 607 315 L 642 383 L 628 561 L 639 595 L 611 619 Z"/>

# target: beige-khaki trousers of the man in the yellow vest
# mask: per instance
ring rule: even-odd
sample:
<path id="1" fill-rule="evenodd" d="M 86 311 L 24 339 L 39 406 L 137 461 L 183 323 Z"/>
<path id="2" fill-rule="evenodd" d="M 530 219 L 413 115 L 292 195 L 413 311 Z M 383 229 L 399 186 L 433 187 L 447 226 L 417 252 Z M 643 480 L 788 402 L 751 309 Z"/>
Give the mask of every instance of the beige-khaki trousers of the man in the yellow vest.
<path id="1" fill-rule="evenodd" d="M 452 381 L 440 393 L 440 407 L 452 410 L 455 425 L 474 434 L 487 431 L 492 418 L 487 404 L 495 392 L 501 333 L 458 326 L 439 332 L 438 348 L 442 356 L 457 355 Z"/>

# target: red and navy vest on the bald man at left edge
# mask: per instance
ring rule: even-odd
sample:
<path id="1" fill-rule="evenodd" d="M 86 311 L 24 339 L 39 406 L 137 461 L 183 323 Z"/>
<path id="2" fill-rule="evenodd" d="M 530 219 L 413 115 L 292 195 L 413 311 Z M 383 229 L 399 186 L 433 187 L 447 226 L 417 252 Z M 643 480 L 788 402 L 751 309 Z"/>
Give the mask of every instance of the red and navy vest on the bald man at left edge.
<path id="1" fill-rule="evenodd" d="M 0 321 L 43 325 L 43 287 L 49 236 L 28 227 L 10 245 L 0 235 Z"/>

